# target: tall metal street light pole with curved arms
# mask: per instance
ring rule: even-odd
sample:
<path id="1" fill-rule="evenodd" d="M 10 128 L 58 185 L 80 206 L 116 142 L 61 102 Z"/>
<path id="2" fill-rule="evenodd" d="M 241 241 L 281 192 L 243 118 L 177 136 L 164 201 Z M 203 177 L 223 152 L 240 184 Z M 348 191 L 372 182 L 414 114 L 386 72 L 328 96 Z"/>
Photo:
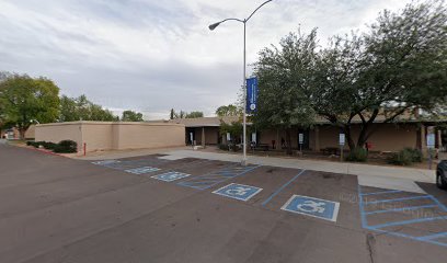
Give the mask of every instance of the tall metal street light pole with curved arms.
<path id="1" fill-rule="evenodd" d="M 240 19 L 226 19 L 220 22 L 214 23 L 208 26 L 210 31 L 214 31 L 217 26 L 226 21 L 237 21 L 243 23 L 243 78 L 242 78 L 242 89 L 243 89 L 243 136 L 242 136 L 242 165 L 247 165 L 247 22 L 253 16 L 253 14 L 260 10 L 264 4 L 272 2 L 273 0 L 268 0 L 263 2 L 259 5 L 250 15 L 244 20 Z"/>

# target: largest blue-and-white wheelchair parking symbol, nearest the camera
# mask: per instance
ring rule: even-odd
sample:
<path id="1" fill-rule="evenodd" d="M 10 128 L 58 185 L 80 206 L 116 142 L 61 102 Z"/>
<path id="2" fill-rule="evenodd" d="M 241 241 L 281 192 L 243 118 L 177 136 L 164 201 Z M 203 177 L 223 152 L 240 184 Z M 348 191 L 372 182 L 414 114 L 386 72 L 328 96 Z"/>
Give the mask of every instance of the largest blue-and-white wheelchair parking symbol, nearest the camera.
<path id="1" fill-rule="evenodd" d="M 280 209 L 336 221 L 340 203 L 302 195 L 293 195 Z"/>

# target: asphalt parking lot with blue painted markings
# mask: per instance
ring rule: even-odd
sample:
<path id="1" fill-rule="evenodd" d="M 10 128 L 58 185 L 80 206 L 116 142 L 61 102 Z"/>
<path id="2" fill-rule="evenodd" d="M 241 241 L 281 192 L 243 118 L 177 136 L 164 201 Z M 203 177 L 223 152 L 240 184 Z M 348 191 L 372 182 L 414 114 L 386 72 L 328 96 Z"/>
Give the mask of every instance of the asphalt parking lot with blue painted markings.
<path id="1" fill-rule="evenodd" d="M 0 146 L 0 262 L 444 262 L 447 193 L 152 155 Z"/>

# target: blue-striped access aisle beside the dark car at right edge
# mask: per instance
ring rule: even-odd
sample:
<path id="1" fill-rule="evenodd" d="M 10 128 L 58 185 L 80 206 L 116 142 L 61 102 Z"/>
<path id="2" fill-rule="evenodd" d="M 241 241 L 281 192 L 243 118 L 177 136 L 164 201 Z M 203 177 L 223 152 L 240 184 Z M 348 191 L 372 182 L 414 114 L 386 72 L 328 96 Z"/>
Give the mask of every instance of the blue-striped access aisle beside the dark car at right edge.
<path id="1" fill-rule="evenodd" d="M 359 209 L 362 217 L 362 226 L 365 229 L 386 233 L 396 237 L 408 238 L 416 241 L 427 242 L 432 244 L 447 247 L 447 231 L 433 232 L 428 229 L 424 229 L 424 225 L 432 222 L 440 224 L 444 229 L 447 229 L 447 207 L 442 204 L 432 195 L 410 195 L 405 197 L 392 198 L 392 197 L 381 197 L 389 196 L 390 194 L 404 193 L 402 191 L 378 191 L 366 193 L 363 187 L 358 186 L 358 199 Z M 374 196 L 374 201 L 368 201 L 368 197 Z M 380 198 L 381 197 L 381 198 Z M 412 202 L 420 202 L 414 205 Z M 371 205 L 377 205 L 379 208 L 371 209 Z M 435 209 L 438 213 L 421 213 L 424 209 Z M 420 213 L 417 213 L 420 211 Z M 392 213 L 402 213 L 406 215 L 416 215 L 414 218 L 405 220 L 391 220 L 383 221 L 380 224 L 371 224 L 370 219 L 373 216 L 378 215 L 390 215 Z M 387 218 L 387 217 L 386 217 Z M 388 217 L 392 218 L 392 217 Z M 405 233 L 402 230 L 392 230 L 393 227 L 412 227 L 417 225 L 417 230 L 422 232 L 422 236 L 415 236 L 411 233 Z M 390 230 L 391 229 L 391 230 Z"/>

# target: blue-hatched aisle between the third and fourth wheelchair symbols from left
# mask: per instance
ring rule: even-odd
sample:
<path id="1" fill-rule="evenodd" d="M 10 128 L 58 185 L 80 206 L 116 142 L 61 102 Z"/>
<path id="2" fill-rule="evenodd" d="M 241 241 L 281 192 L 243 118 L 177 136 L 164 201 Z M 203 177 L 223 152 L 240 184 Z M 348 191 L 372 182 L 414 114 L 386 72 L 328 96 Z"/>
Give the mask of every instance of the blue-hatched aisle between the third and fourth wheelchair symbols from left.
<path id="1" fill-rule="evenodd" d="M 242 167 L 239 164 L 230 164 L 224 169 L 220 169 L 218 171 L 214 171 L 200 176 L 192 178 L 190 180 L 185 180 L 182 182 L 179 182 L 179 185 L 186 186 L 186 187 L 192 187 L 196 190 L 207 190 L 213 186 L 215 186 L 218 183 L 222 183 L 227 180 L 241 176 L 260 165 L 247 165 Z"/>

